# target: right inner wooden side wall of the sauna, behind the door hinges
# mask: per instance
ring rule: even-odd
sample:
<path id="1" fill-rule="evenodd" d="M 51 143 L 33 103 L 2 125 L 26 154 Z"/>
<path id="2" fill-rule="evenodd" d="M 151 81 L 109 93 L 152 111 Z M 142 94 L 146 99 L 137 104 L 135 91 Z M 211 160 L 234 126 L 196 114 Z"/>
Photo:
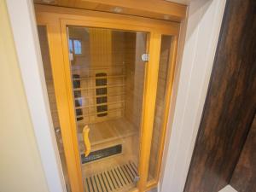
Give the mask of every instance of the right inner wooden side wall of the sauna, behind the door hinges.
<path id="1" fill-rule="evenodd" d="M 144 33 L 125 34 L 125 118 L 140 127 L 143 107 L 145 63 L 141 55 L 146 52 L 147 36 Z"/>

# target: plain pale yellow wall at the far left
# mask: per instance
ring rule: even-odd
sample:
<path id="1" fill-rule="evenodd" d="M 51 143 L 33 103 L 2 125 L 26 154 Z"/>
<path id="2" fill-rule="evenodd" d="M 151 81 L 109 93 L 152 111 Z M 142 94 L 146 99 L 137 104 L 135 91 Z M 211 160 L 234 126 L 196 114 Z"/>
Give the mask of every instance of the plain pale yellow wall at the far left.
<path id="1" fill-rule="evenodd" d="M 4 0 L 0 26 L 0 191 L 48 192 Z"/>

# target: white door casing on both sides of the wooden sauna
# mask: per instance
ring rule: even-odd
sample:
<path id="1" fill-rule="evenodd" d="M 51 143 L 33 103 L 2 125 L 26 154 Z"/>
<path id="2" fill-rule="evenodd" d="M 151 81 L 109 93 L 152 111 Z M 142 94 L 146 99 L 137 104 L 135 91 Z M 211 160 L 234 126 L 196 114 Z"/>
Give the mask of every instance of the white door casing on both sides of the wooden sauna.
<path id="1" fill-rule="evenodd" d="M 6 3 L 49 191 L 65 192 L 32 0 L 6 0 Z M 187 31 L 183 33 L 180 42 L 183 46 L 179 48 L 178 62 L 181 67 L 175 79 L 175 109 L 168 124 L 172 131 L 168 133 L 164 154 L 159 186 L 162 192 L 183 191 L 207 95 L 224 4 L 225 0 L 191 1 L 188 20 L 182 25 Z"/>

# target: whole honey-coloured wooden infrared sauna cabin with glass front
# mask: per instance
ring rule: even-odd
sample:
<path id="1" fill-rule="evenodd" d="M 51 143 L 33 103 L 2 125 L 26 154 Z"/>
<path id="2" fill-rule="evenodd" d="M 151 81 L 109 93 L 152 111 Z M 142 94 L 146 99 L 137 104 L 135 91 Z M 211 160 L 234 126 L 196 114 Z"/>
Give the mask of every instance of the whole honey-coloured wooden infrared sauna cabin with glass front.
<path id="1" fill-rule="evenodd" d="M 160 178 L 186 7 L 77 2 L 35 1 L 67 191 L 152 189 Z"/>

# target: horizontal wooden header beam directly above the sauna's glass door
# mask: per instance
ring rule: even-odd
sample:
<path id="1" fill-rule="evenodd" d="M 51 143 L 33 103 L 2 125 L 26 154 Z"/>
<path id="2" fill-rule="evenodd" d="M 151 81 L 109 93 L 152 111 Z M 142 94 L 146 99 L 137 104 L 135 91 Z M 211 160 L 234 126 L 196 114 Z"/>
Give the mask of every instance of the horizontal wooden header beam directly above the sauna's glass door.
<path id="1" fill-rule="evenodd" d="M 57 17 L 66 22 L 73 23 L 73 20 L 80 23 L 86 21 L 85 26 L 101 26 L 113 29 L 135 30 L 143 32 L 160 32 L 177 36 L 179 33 L 179 23 L 154 20 L 148 18 L 137 17 L 133 15 L 116 15 L 105 12 L 90 11 L 83 9 L 60 8 L 46 5 L 36 5 L 36 15 L 44 20 L 51 20 Z M 82 22 L 83 23 L 83 22 Z M 73 23 L 75 24 L 75 23 Z"/>

